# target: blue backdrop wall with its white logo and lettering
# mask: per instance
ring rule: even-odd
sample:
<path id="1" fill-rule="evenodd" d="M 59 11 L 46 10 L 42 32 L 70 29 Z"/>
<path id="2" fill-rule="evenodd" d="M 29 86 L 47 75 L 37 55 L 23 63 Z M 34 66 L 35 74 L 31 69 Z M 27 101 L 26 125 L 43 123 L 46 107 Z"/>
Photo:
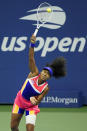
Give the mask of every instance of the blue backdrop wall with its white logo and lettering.
<path id="1" fill-rule="evenodd" d="M 0 103 L 13 103 L 29 73 L 29 39 L 36 28 L 36 8 L 42 2 L 0 0 Z M 55 57 L 64 56 L 67 76 L 49 81 L 50 91 L 41 106 L 44 103 L 56 103 L 59 107 L 71 106 L 69 103 L 75 107 L 78 102 L 80 106 L 87 104 L 87 1 L 46 2 L 57 11 L 51 22 L 38 32 L 36 64 L 41 71 Z"/>

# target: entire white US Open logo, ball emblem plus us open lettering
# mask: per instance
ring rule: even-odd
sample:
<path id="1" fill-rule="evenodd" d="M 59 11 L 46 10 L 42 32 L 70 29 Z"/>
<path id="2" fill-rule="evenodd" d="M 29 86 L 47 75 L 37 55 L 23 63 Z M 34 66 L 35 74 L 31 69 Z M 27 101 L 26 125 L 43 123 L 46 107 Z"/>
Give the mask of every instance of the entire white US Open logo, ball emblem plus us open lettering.
<path id="1" fill-rule="evenodd" d="M 66 13 L 64 10 L 58 6 L 52 6 L 52 17 L 46 24 L 43 25 L 44 28 L 48 29 L 59 29 L 66 22 Z M 20 18 L 20 20 L 28 20 L 33 21 L 33 25 L 37 25 L 37 9 L 33 9 L 28 11 L 28 15 Z M 29 36 L 13 36 L 13 37 L 3 37 L 1 41 L 0 50 L 2 52 L 21 52 L 27 48 Z M 36 41 L 38 41 L 38 46 L 35 47 L 35 52 L 39 52 L 41 50 L 41 57 L 46 57 L 48 53 L 51 53 L 57 49 L 58 53 L 67 53 L 67 52 L 78 52 L 82 53 L 85 50 L 85 46 L 87 43 L 87 37 L 77 36 L 75 34 L 74 37 L 62 37 L 58 38 L 55 36 L 46 36 L 46 39 L 43 37 L 37 37 Z M 51 45 L 51 43 L 53 44 Z"/>

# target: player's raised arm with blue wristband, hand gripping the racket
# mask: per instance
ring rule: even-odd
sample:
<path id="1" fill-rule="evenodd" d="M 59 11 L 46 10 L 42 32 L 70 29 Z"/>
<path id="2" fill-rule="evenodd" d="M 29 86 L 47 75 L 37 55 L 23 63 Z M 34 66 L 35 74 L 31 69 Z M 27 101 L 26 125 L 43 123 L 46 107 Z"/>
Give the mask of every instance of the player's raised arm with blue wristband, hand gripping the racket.
<path id="1" fill-rule="evenodd" d="M 36 42 L 36 37 L 34 35 L 32 35 L 32 37 L 30 38 L 30 48 L 29 48 L 29 68 L 30 68 L 30 74 L 28 75 L 28 77 L 33 77 L 38 75 L 39 71 L 38 68 L 36 66 L 35 63 L 35 58 L 34 58 L 34 46 L 35 46 L 35 42 Z"/>

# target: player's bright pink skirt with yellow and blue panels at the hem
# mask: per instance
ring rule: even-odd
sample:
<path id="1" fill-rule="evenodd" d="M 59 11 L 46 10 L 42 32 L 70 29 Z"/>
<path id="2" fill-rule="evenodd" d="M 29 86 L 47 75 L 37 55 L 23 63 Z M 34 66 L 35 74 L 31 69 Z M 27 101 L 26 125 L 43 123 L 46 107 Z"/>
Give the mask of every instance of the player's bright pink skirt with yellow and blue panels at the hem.
<path id="1" fill-rule="evenodd" d="M 37 113 L 40 112 L 40 109 L 38 108 L 38 105 L 33 105 L 29 100 L 23 98 L 21 91 L 19 91 L 14 100 L 12 113 L 23 114 L 24 111 L 37 115 Z"/>

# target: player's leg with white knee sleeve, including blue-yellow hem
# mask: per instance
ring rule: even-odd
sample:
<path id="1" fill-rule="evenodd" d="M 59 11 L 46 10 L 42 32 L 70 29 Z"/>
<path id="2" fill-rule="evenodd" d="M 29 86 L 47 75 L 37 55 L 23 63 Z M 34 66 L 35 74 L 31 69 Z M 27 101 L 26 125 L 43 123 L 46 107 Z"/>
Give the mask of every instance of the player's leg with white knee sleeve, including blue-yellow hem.
<path id="1" fill-rule="evenodd" d="M 36 122 L 36 114 L 34 111 L 26 111 L 26 130 L 27 131 L 34 131 Z"/>

